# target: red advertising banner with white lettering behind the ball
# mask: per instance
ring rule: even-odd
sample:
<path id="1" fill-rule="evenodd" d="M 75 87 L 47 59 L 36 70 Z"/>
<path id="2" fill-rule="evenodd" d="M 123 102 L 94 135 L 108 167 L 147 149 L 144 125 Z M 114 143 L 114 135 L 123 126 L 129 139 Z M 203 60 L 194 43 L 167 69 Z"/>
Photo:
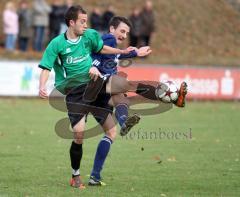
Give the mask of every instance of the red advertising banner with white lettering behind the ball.
<path id="1" fill-rule="evenodd" d="M 184 66 L 130 66 L 121 68 L 129 80 L 166 81 L 188 84 L 188 98 L 239 100 L 240 69 Z"/>

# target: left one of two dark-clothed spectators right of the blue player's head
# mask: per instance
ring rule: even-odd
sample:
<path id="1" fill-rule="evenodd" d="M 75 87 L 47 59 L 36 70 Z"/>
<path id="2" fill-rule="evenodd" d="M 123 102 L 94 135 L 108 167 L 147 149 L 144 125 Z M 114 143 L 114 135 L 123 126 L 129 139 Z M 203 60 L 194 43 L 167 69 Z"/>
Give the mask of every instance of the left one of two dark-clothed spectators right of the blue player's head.
<path id="1" fill-rule="evenodd" d="M 140 47 L 140 38 L 141 38 L 141 28 L 142 28 L 142 20 L 140 17 L 141 10 L 139 8 L 134 8 L 129 20 L 132 23 L 132 27 L 130 30 L 130 46 Z"/>

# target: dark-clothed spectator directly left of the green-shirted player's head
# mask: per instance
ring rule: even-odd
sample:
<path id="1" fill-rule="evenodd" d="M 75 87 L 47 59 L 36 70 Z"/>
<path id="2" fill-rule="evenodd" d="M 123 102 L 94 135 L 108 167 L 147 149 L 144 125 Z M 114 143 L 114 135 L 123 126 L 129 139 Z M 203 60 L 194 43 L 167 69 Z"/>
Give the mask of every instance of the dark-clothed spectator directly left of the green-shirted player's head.
<path id="1" fill-rule="evenodd" d="M 62 0 L 54 0 L 49 15 L 49 39 L 60 34 L 61 24 L 64 23 L 65 6 Z"/>

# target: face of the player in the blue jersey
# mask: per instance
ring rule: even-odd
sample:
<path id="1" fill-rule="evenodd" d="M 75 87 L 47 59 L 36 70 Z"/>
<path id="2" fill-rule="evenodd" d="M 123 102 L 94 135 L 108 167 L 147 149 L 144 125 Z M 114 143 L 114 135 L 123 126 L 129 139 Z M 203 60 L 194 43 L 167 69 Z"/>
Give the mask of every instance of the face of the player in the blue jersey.
<path id="1" fill-rule="evenodd" d="M 127 38 L 129 31 L 130 27 L 123 22 L 121 22 L 116 29 L 110 27 L 110 33 L 116 38 L 117 44 L 121 44 Z"/>

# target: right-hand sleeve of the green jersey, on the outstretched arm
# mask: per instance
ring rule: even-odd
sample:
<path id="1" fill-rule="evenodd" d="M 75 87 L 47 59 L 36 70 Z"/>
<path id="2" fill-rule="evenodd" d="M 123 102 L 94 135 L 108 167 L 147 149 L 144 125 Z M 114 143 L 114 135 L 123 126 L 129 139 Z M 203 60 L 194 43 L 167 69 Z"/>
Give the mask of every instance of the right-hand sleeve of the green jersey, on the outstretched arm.
<path id="1" fill-rule="evenodd" d="M 103 40 L 100 36 L 100 34 L 95 31 L 94 29 L 88 30 L 88 37 L 91 40 L 91 46 L 92 46 L 92 52 L 98 53 L 103 48 Z"/>

